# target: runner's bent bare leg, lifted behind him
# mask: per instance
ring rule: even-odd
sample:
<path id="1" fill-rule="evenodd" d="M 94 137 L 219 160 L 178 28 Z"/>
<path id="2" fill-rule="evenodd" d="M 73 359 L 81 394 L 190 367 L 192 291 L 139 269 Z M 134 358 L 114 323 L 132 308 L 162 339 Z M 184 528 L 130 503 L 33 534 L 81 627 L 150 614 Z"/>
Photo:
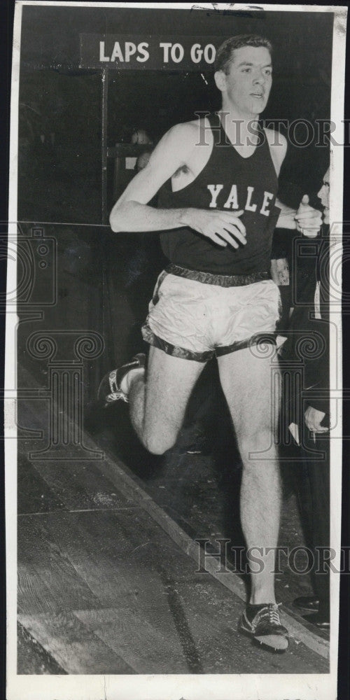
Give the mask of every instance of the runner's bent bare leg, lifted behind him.
<path id="1" fill-rule="evenodd" d="M 132 426 L 153 454 L 163 454 L 174 445 L 203 369 L 202 362 L 173 357 L 151 346 L 146 379 L 141 369 L 126 375 Z"/>

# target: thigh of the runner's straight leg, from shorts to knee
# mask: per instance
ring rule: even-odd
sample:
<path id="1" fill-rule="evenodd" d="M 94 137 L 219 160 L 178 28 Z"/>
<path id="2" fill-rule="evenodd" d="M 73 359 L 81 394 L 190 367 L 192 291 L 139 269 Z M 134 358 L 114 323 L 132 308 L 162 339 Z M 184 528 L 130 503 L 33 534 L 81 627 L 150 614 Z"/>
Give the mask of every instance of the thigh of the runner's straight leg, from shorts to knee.
<path id="1" fill-rule="evenodd" d="M 274 345 L 251 346 L 221 356 L 218 367 L 237 437 L 265 430 L 275 433 L 280 378 Z"/>

